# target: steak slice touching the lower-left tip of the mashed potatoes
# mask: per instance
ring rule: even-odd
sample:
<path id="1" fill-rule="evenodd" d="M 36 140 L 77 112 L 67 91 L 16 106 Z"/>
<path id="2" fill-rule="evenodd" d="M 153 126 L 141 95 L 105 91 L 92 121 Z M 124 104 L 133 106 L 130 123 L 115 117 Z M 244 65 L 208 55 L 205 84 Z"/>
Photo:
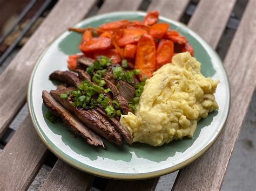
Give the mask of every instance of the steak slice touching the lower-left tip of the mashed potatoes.
<path id="1" fill-rule="evenodd" d="M 106 112 L 101 107 L 96 107 L 96 111 L 99 112 L 102 116 L 107 118 Z M 132 135 L 129 131 L 127 131 L 116 118 L 108 118 L 109 122 L 114 126 L 114 129 L 116 129 L 122 137 L 125 139 L 125 141 L 129 144 L 132 144 Z"/>

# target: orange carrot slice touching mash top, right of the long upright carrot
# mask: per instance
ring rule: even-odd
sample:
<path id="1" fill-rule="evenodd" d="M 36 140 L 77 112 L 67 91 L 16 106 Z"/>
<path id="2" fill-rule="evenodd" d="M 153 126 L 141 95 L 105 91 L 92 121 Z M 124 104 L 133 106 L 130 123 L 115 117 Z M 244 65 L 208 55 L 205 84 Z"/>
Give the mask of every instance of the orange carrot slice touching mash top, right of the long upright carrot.
<path id="1" fill-rule="evenodd" d="M 174 44 L 171 40 L 161 39 L 157 47 L 156 70 L 170 63 L 173 56 Z"/>

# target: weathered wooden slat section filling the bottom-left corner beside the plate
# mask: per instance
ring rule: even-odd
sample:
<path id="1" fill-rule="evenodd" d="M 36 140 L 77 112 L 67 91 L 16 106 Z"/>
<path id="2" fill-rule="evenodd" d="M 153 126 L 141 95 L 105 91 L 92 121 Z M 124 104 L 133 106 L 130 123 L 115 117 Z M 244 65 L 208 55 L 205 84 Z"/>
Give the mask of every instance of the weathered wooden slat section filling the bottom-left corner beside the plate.
<path id="1" fill-rule="evenodd" d="M 41 168 L 47 148 L 29 117 L 0 154 L 0 190 L 26 190 Z"/>

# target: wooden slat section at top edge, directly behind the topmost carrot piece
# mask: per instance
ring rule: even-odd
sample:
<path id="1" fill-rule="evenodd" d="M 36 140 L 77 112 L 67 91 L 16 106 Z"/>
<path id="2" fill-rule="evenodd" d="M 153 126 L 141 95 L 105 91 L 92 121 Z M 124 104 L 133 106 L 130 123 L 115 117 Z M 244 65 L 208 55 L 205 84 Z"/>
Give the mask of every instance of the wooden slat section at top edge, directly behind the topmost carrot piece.
<path id="1" fill-rule="evenodd" d="M 180 20 L 189 2 L 189 0 L 153 0 L 148 10 L 156 10 L 159 11 L 161 16 Z"/>

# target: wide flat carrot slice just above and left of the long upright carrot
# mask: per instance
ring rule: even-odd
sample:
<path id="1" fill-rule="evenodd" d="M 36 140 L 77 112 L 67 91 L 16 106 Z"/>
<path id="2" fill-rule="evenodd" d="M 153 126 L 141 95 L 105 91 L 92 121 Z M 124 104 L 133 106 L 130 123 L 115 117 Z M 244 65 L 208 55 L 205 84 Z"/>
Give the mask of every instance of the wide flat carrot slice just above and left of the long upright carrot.
<path id="1" fill-rule="evenodd" d="M 139 38 L 145 33 L 147 33 L 147 31 L 143 29 L 124 29 L 123 37 L 117 41 L 117 45 L 124 47 L 127 44 L 137 43 Z"/>

